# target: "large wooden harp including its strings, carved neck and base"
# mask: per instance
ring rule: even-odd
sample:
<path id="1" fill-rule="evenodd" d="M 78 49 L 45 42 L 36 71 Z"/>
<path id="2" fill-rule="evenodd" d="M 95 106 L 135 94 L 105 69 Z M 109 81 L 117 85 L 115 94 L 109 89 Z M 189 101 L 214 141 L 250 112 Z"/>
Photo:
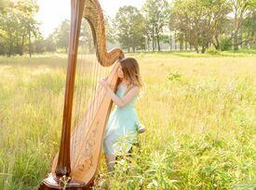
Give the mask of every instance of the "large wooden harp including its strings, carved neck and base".
<path id="1" fill-rule="evenodd" d="M 104 19 L 98 0 L 71 0 L 71 9 L 61 146 L 59 154 L 54 158 L 51 173 L 39 189 L 61 189 L 63 185 L 66 189 L 89 188 L 98 168 L 104 126 L 112 107 L 110 97 L 98 86 L 98 79 L 107 76 L 115 91 L 118 83 L 115 62 L 124 57 L 118 48 L 106 51 Z M 85 28 L 91 32 L 94 48 L 82 44 L 86 44 L 89 38 L 82 35 Z M 91 49 L 95 50 L 95 59 Z M 88 55 L 85 56 L 83 51 L 88 52 Z M 78 62 L 82 65 L 79 70 Z M 78 72 L 85 76 L 78 77 Z M 79 86 L 84 88 L 78 90 Z M 80 100 L 81 97 L 85 99 Z M 83 104 L 77 103 L 79 101 Z M 87 105 L 87 110 L 79 110 L 84 105 Z"/>

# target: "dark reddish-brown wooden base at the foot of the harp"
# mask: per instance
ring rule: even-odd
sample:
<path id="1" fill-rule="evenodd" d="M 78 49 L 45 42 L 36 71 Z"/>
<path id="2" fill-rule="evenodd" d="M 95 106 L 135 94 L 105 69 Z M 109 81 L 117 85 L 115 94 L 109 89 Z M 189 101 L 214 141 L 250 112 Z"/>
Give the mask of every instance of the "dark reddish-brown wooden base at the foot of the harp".
<path id="1" fill-rule="evenodd" d="M 66 190 L 88 190 L 91 189 L 90 184 L 85 184 L 84 182 L 72 179 L 66 187 L 61 185 L 60 180 L 58 180 L 52 173 L 48 174 L 48 177 L 42 181 L 38 190 L 55 190 L 55 189 L 66 189 Z"/>

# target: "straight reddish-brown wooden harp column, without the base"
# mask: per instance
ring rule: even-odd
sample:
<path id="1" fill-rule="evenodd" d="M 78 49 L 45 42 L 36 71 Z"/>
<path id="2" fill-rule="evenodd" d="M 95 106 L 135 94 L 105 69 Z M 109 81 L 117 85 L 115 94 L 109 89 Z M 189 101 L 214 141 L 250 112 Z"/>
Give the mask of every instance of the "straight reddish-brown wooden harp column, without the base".
<path id="1" fill-rule="evenodd" d="M 70 136 L 71 120 L 74 98 L 74 77 L 77 60 L 77 50 L 79 44 L 79 35 L 81 20 L 86 0 L 71 0 L 71 31 L 69 39 L 68 69 L 66 78 L 66 91 L 63 109 L 61 146 L 58 158 L 58 164 L 55 173 L 58 177 L 69 176 L 70 166 Z"/>

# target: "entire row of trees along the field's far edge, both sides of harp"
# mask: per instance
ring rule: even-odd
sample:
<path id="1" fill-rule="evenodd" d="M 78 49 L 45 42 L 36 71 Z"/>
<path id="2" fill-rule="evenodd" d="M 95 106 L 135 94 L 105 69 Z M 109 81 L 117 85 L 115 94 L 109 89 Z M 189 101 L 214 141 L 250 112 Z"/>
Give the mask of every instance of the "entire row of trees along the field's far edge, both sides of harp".
<path id="1" fill-rule="evenodd" d="M 0 0 L 0 55 L 67 51 L 70 21 L 44 39 L 34 19 L 38 10 L 36 0 Z M 256 48 L 256 0 L 146 0 L 141 10 L 122 6 L 114 19 L 105 18 L 109 44 L 128 52 L 162 51 L 163 44 L 197 53 Z M 86 28 L 84 43 L 91 38 Z"/>

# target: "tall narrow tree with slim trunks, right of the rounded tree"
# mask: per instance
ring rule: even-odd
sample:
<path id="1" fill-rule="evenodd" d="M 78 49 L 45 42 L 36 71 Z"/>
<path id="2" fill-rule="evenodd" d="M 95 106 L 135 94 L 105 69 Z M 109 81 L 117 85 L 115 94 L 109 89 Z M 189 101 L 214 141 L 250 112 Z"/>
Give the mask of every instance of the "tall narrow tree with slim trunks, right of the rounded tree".
<path id="1" fill-rule="evenodd" d="M 152 41 L 155 51 L 155 39 L 158 51 L 161 51 L 160 39 L 163 28 L 168 24 L 168 2 L 166 0 L 147 0 L 142 10 L 146 19 L 147 41 Z"/>

